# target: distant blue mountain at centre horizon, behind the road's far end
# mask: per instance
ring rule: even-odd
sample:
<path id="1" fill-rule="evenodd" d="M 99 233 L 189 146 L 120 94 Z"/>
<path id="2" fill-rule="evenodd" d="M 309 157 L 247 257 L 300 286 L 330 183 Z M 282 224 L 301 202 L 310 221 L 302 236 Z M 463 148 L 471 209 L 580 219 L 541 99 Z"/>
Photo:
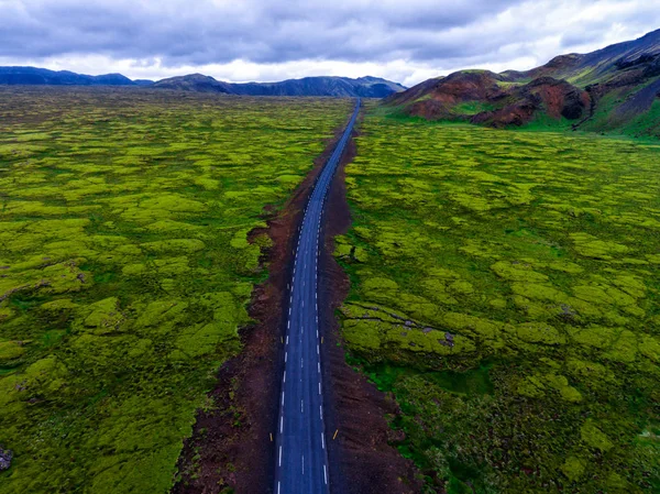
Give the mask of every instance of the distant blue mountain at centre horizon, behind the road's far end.
<path id="1" fill-rule="evenodd" d="M 333 96 L 384 98 L 406 88 L 377 77 L 305 77 L 280 83 L 222 83 L 201 74 L 172 77 L 155 83 L 154 89 L 221 92 L 243 96 Z"/>

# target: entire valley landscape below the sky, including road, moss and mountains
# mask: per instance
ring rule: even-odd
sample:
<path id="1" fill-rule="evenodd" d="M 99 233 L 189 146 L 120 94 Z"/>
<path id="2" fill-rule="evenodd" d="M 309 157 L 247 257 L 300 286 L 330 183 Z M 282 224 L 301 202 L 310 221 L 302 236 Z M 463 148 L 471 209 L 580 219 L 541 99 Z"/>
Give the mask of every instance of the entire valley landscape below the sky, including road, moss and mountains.
<path id="1" fill-rule="evenodd" d="M 659 64 L 0 67 L 0 494 L 660 492 Z"/>

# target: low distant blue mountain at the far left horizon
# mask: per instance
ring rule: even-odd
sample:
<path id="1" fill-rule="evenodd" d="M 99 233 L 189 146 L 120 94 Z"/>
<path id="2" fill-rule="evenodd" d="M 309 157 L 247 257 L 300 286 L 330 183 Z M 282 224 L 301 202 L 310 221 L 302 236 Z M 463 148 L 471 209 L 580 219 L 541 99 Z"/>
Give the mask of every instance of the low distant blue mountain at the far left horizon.
<path id="1" fill-rule="evenodd" d="M 86 76 L 68 70 L 48 70 L 37 67 L 0 67 L 0 85 L 40 86 L 134 86 L 121 74 Z"/>

